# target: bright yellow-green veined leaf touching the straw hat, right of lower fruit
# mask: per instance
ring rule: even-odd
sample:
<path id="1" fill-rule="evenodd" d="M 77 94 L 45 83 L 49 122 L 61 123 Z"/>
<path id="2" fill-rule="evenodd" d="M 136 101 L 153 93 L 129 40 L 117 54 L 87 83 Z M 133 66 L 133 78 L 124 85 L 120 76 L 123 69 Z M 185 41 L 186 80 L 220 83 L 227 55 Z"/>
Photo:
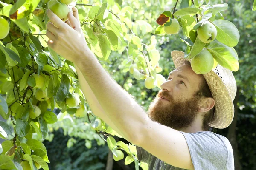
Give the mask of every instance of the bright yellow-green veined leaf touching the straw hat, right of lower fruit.
<path id="1" fill-rule="evenodd" d="M 213 41 L 207 47 L 207 50 L 212 54 L 219 65 L 231 71 L 238 71 L 238 55 L 234 48 L 228 47 L 221 42 Z"/>

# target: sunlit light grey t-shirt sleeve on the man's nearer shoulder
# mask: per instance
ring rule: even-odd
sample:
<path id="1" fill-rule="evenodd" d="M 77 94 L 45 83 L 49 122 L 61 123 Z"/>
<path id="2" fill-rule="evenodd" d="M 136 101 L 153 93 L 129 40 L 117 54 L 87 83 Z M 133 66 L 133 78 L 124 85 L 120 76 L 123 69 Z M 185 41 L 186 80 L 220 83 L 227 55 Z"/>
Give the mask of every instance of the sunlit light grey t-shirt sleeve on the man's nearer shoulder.
<path id="1" fill-rule="evenodd" d="M 226 137 L 210 131 L 181 133 L 195 170 L 234 170 L 233 149 Z"/>

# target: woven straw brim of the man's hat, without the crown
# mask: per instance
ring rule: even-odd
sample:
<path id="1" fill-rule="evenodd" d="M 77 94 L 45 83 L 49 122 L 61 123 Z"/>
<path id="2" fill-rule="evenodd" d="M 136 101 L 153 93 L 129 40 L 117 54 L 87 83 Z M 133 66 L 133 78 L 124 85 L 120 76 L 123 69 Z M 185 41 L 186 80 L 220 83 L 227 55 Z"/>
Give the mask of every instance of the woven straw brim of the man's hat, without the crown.
<path id="1" fill-rule="evenodd" d="M 171 52 L 171 57 L 175 68 L 178 68 L 181 65 L 184 65 L 187 61 L 190 62 L 191 60 L 185 59 L 184 52 L 177 50 Z M 222 68 L 218 66 L 218 69 Z M 232 73 L 230 72 L 230 74 Z M 234 117 L 234 104 L 232 96 L 230 95 L 227 86 L 224 85 L 224 82 L 221 80 L 222 77 L 220 78 L 213 70 L 202 75 L 204 76 L 209 89 L 212 92 L 212 97 L 215 100 L 215 112 L 213 120 L 209 123 L 209 126 L 224 129 L 232 123 Z"/>

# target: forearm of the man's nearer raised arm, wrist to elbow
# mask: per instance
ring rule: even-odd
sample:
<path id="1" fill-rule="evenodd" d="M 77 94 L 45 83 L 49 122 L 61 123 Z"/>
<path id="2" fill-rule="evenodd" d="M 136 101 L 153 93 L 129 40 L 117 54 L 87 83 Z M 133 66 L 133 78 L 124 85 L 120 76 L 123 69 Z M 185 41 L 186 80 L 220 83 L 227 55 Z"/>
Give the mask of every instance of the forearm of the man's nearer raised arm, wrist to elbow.
<path id="1" fill-rule="evenodd" d="M 87 80 L 102 109 L 122 132 L 123 137 L 136 143 L 148 116 L 143 108 L 121 88 L 102 68 L 91 51 L 90 57 L 81 58 L 77 66 Z"/>

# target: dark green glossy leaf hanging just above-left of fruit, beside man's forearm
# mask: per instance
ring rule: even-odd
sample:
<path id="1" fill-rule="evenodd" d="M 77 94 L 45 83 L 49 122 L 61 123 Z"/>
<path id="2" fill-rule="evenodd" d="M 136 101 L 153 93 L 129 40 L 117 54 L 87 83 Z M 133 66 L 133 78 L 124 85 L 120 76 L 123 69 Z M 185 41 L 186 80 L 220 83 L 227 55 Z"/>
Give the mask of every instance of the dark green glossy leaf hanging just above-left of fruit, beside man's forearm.
<path id="1" fill-rule="evenodd" d="M 66 74 L 62 74 L 61 84 L 56 93 L 56 100 L 61 102 L 64 101 L 70 89 L 70 79 Z"/>

